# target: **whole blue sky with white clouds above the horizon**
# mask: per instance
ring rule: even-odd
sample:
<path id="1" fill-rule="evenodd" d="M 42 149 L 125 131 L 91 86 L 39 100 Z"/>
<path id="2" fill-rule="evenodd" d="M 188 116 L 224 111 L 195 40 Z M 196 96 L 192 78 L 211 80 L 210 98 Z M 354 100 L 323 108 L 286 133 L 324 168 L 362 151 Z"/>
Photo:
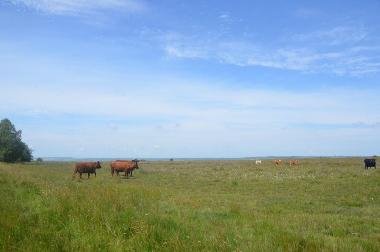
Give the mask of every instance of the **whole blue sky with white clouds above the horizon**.
<path id="1" fill-rule="evenodd" d="M 35 157 L 379 155 L 380 1 L 2 0 Z"/>

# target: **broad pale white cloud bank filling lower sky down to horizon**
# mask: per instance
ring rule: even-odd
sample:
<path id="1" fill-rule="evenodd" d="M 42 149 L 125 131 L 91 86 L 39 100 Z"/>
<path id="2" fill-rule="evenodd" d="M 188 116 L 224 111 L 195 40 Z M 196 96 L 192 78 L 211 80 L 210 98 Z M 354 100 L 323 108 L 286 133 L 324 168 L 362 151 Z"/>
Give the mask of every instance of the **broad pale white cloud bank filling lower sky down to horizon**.
<path id="1" fill-rule="evenodd" d="M 37 156 L 358 154 L 367 145 L 356 140 L 376 142 L 379 135 L 378 89 L 285 91 L 157 78 L 150 83 L 157 84 L 148 81 L 143 90 L 138 82 L 117 90 L 3 84 L 0 115 L 28 118 L 17 126 Z M 349 146 L 356 149 L 348 152 Z"/>

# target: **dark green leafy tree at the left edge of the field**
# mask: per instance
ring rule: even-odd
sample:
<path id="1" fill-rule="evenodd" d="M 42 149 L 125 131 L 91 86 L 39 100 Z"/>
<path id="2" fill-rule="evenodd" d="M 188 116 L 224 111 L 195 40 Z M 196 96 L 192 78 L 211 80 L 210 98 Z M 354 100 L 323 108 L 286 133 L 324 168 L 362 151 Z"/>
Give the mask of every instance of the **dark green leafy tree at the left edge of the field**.
<path id="1" fill-rule="evenodd" d="M 30 162 L 32 151 L 21 140 L 21 130 L 16 130 L 9 119 L 0 121 L 0 162 Z"/>

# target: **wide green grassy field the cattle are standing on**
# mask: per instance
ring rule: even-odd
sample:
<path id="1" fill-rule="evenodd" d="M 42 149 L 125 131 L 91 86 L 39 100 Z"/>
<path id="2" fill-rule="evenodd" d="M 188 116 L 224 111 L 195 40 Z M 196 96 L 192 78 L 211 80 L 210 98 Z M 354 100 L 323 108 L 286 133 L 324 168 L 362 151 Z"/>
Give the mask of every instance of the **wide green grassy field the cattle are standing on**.
<path id="1" fill-rule="evenodd" d="M 362 159 L 0 163 L 2 251 L 380 251 L 380 170 Z"/>

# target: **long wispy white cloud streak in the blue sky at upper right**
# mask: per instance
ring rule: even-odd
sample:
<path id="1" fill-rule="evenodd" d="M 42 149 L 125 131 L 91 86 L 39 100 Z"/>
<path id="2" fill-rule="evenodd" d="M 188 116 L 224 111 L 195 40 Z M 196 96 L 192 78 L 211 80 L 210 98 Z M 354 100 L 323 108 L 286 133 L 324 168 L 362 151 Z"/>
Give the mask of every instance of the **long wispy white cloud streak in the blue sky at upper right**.
<path id="1" fill-rule="evenodd" d="M 290 43 L 265 46 L 247 40 L 170 36 L 164 39 L 167 55 L 214 60 L 237 66 L 260 66 L 302 72 L 363 75 L 380 72 L 380 48 L 366 45 L 363 28 L 339 26 L 297 34 Z"/>

